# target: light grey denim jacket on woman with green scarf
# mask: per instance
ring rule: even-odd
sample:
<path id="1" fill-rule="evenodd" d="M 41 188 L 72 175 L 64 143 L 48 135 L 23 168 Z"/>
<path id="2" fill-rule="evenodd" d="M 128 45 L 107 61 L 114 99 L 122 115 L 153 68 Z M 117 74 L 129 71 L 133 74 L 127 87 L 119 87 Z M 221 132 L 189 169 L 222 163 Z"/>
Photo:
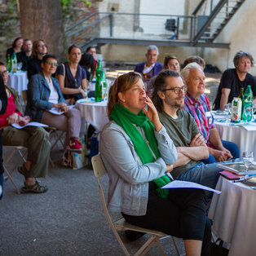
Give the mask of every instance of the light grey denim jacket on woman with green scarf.
<path id="1" fill-rule="evenodd" d="M 136 127 L 145 138 L 142 128 Z M 129 215 L 144 215 L 148 204 L 148 182 L 165 175 L 166 164 L 177 159 L 173 141 L 163 126 L 155 131 L 161 157 L 143 165 L 126 131 L 114 121 L 101 131 L 99 152 L 108 170 L 108 209 Z"/>

